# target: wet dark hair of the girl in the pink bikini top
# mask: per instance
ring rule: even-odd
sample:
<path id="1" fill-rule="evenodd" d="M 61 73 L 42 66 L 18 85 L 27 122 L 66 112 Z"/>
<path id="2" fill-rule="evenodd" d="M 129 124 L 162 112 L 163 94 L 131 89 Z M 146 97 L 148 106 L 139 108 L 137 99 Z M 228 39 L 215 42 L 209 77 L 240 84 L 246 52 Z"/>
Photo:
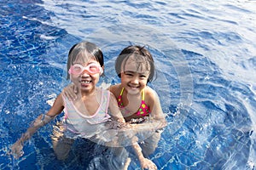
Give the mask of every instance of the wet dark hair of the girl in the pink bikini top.
<path id="1" fill-rule="evenodd" d="M 124 70 L 127 59 L 134 56 L 137 62 L 143 62 L 150 67 L 148 82 L 152 82 L 154 77 L 154 59 L 148 49 L 145 46 L 141 47 L 139 45 L 131 45 L 124 48 L 119 54 L 118 58 L 115 60 L 115 71 L 119 77 L 121 77 L 121 72 Z M 140 65 L 140 64 L 139 64 Z M 123 68 L 122 68 L 123 67 Z"/>

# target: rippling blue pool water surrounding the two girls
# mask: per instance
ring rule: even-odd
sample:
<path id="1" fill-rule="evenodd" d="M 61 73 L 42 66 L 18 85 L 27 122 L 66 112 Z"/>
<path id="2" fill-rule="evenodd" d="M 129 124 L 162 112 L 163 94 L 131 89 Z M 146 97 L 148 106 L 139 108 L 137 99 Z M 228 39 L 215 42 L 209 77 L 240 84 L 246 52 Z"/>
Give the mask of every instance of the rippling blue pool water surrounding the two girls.
<path id="1" fill-rule="evenodd" d="M 67 85 L 67 52 L 98 44 L 106 77 L 122 48 L 147 45 L 168 126 L 150 159 L 159 169 L 255 169 L 256 2 L 0 1 L 0 169 L 84 169 L 97 156 L 78 141 L 57 161 L 52 125 L 41 128 L 19 160 L 7 155 L 29 123 Z M 130 169 L 139 169 L 132 161 Z"/>

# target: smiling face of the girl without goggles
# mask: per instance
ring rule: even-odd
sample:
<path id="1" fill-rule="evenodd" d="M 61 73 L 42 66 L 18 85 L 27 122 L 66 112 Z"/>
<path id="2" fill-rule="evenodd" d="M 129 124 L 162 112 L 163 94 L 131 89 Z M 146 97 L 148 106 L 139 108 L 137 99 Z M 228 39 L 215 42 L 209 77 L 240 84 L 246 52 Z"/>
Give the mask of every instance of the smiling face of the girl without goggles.
<path id="1" fill-rule="evenodd" d="M 130 57 L 122 66 L 121 84 L 128 94 L 140 94 L 146 88 L 150 69 L 147 62 Z"/>

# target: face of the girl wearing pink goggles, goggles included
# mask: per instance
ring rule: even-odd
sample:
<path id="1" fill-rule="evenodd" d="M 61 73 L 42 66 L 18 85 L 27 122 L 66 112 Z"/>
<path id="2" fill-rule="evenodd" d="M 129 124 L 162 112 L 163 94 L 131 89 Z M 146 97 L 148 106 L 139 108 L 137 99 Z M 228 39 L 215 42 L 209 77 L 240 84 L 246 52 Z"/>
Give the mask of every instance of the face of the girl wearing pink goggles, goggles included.
<path id="1" fill-rule="evenodd" d="M 71 66 L 69 73 L 71 81 L 81 90 L 90 93 L 96 88 L 99 82 L 102 67 L 95 59 L 84 60 L 76 59 Z"/>

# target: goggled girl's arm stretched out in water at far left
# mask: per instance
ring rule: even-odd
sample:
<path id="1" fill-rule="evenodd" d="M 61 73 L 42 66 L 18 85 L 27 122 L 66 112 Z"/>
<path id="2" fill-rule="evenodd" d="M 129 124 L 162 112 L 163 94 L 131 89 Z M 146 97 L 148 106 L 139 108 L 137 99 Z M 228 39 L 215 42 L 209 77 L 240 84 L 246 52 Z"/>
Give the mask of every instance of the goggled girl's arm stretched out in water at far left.
<path id="1" fill-rule="evenodd" d="M 15 144 L 11 147 L 11 152 L 16 159 L 23 155 L 23 145 L 26 140 L 30 139 L 34 133 L 37 132 L 38 128 L 43 127 L 45 124 L 50 122 L 55 116 L 59 115 L 63 111 L 63 100 L 61 95 L 55 99 L 54 105 L 50 108 L 46 115 L 41 114 L 33 122 L 32 125 L 23 133 Z"/>

